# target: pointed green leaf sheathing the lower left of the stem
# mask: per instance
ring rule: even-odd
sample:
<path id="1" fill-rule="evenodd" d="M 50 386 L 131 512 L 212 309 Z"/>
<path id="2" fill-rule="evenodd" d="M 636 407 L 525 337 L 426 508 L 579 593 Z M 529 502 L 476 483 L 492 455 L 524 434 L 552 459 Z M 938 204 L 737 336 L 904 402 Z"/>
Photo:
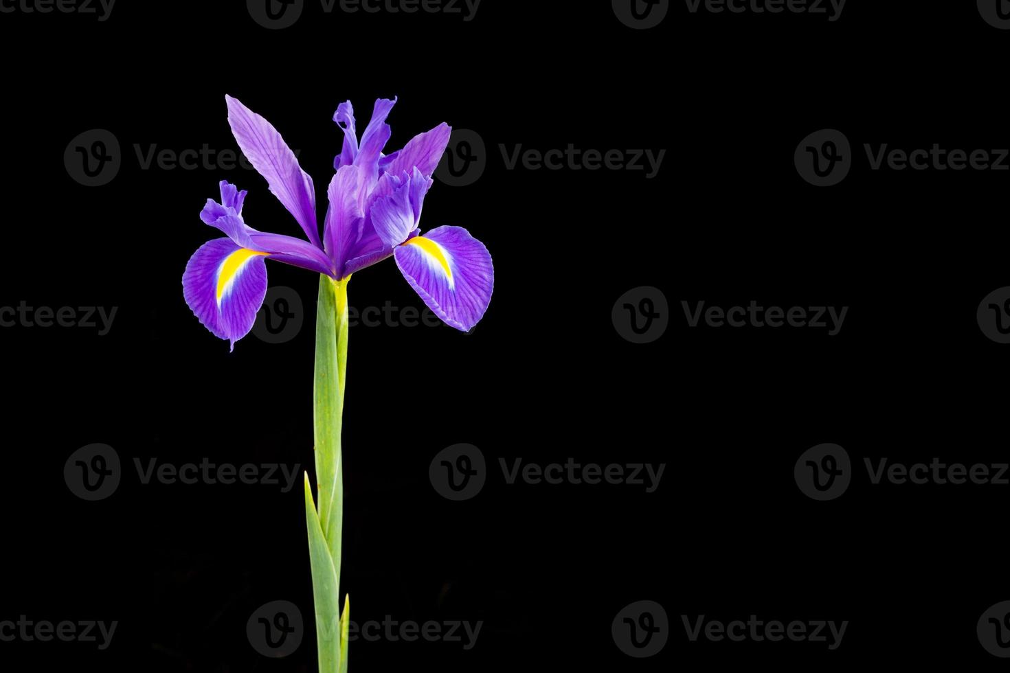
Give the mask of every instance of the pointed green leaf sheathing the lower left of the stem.
<path id="1" fill-rule="evenodd" d="M 312 501 L 312 485 L 309 483 L 308 472 L 305 473 L 305 523 L 309 531 L 309 562 L 312 566 L 312 599 L 315 603 L 319 673 L 345 672 L 346 642 L 339 619 L 338 577 L 326 539 L 322 535 L 322 528 L 319 526 L 315 502 Z"/>

